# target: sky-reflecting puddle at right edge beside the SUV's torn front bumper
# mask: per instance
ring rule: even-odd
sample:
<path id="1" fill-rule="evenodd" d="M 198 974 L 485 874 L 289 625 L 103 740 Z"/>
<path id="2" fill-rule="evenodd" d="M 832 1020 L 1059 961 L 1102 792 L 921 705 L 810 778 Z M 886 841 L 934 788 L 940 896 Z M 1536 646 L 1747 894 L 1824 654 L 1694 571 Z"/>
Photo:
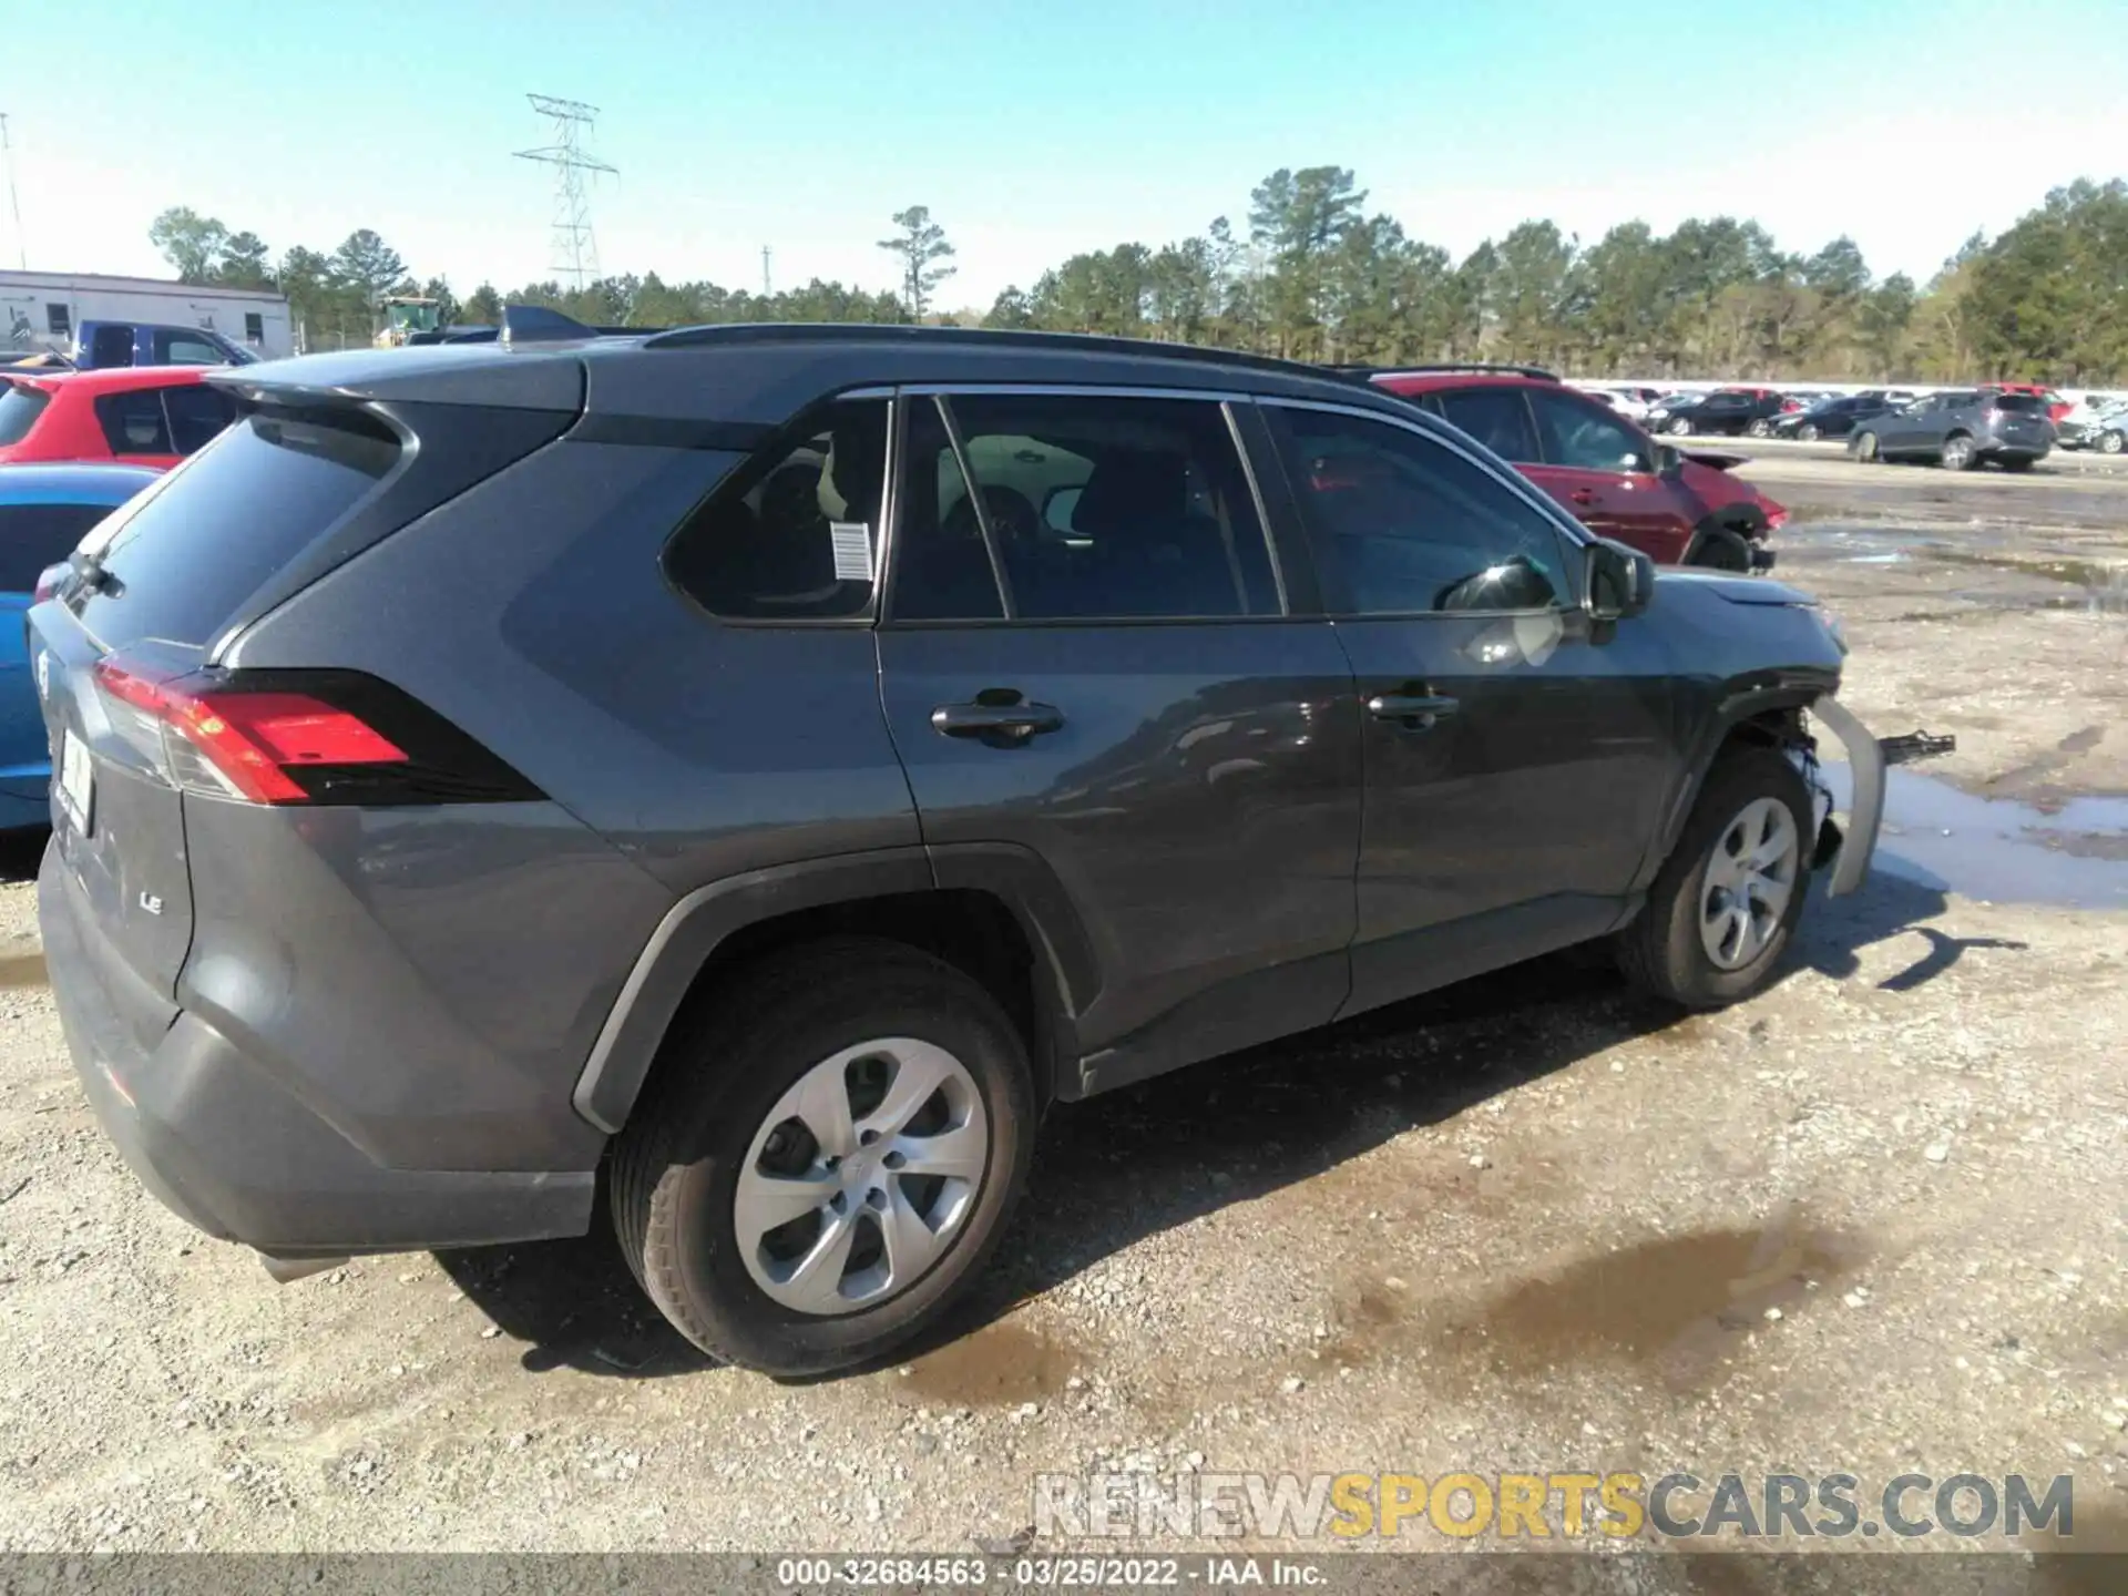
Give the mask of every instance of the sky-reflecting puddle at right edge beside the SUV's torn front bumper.
<path id="1" fill-rule="evenodd" d="M 1847 766 L 1824 775 L 1845 809 Z M 1873 868 L 1985 902 L 2128 909 L 2128 798 L 2041 807 L 1894 768 Z"/>

